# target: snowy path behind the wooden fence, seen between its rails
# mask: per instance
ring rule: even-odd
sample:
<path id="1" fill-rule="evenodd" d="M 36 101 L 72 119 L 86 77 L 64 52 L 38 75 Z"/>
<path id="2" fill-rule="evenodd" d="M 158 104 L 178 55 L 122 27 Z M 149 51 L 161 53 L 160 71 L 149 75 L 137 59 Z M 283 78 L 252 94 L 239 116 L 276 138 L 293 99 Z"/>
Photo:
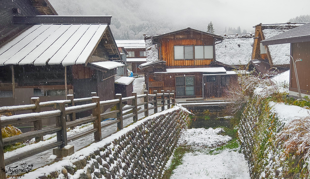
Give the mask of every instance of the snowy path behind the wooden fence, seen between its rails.
<path id="1" fill-rule="evenodd" d="M 144 84 L 144 77 L 136 78 L 134 80 L 134 84 L 133 84 L 133 86 L 134 86 L 133 91 L 137 92 L 138 95 L 143 94 L 143 84 Z M 139 100 L 138 103 L 140 103 L 143 101 L 143 98 L 138 99 L 138 100 Z M 149 105 L 149 106 L 151 107 L 151 105 Z M 140 107 L 141 107 L 140 110 L 144 109 L 144 106 L 140 106 Z M 167 109 L 167 107 L 165 107 L 165 109 Z M 158 112 L 160 112 L 160 111 L 161 111 L 161 108 L 158 108 Z M 150 110 L 149 115 L 153 114 L 153 112 L 154 112 L 154 110 Z M 143 117 L 144 117 L 144 112 L 138 114 L 138 119 L 141 119 Z M 101 122 L 101 125 L 103 125 L 107 122 L 110 122 L 110 121 Z M 128 119 L 123 121 L 123 126 L 125 127 L 125 126 L 132 124 L 132 123 L 133 123 L 133 118 L 131 117 L 131 118 L 128 118 Z M 93 128 L 93 125 L 90 123 L 86 124 L 86 125 L 82 125 L 82 126 L 77 126 L 75 129 L 68 131 L 67 136 L 71 137 L 73 135 L 77 135 L 78 133 L 82 133 L 82 132 L 90 130 L 92 128 Z M 114 132 L 116 132 L 116 130 L 117 130 L 117 124 L 113 124 L 111 126 L 103 128 L 101 130 L 102 138 L 105 138 L 105 137 L 113 134 Z M 20 154 L 22 152 L 29 151 L 31 149 L 36 149 L 40 146 L 55 142 L 56 141 L 55 136 L 56 136 L 55 134 L 45 135 L 44 136 L 45 141 L 40 141 L 40 142 L 35 143 L 35 144 L 26 145 L 22 148 L 13 150 L 11 152 L 6 152 L 4 154 L 4 158 L 9 158 L 9 157 L 15 156 L 16 154 Z M 68 141 L 68 144 L 74 145 L 74 151 L 77 151 L 77 150 L 82 149 L 85 146 L 87 146 L 93 142 L 94 142 L 94 134 L 91 134 L 91 135 L 87 135 L 85 137 L 82 137 L 82 138 L 75 140 L 75 141 L 72 141 L 72 142 Z M 53 162 L 55 158 L 56 158 L 56 156 L 52 154 L 52 150 L 47 150 L 45 152 L 42 152 L 40 154 L 36 154 L 34 156 L 31 156 L 31 157 L 26 158 L 24 160 L 21 160 L 19 162 L 12 163 L 9 166 L 16 166 L 16 165 L 19 165 L 21 163 L 28 163 L 28 164 L 33 164 L 33 169 L 35 169 L 35 168 L 42 167 L 44 165 L 47 165 L 47 164 Z"/>

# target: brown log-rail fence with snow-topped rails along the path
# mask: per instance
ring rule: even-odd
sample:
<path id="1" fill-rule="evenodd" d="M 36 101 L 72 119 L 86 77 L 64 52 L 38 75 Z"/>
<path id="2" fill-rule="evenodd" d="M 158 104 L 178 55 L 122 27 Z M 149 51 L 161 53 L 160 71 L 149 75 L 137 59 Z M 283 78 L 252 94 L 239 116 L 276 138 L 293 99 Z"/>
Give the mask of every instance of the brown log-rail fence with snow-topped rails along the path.
<path id="1" fill-rule="evenodd" d="M 144 116 L 149 115 L 150 110 L 154 110 L 157 113 L 157 109 L 161 107 L 161 110 L 165 110 L 165 106 L 170 108 L 171 104 L 175 104 L 175 94 L 174 91 L 166 93 L 162 90 L 161 93 L 154 91 L 154 94 L 148 94 L 148 91 L 144 91 L 144 94 L 137 95 L 136 92 L 132 92 L 133 96 L 122 98 L 122 94 L 116 94 L 116 98 L 107 101 L 100 101 L 100 98 L 96 96 L 96 93 L 91 93 L 92 97 L 74 99 L 73 95 L 68 95 L 68 100 L 58 100 L 58 101 L 48 101 L 40 102 L 39 98 L 31 98 L 32 104 L 20 105 L 20 106 L 8 106 L 1 107 L 0 113 L 5 112 L 17 112 L 23 110 L 32 110 L 32 113 L 19 114 L 13 116 L 2 116 L 0 118 L 0 127 L 8 125 L 23 124 L 27 122 L 33 122 L 35 131 L 26 132 L 20 135 L 15 135 L 2 139 L 2 133 L 0 131 L 0 166 L 5 168 L 5 165 L 20 161 L 24 158 L 28 158 L 35 154 L 39 154 L 43 151 L 53 149 L 58 147 L 63 148 L 68 144 L 68 141 L 74 141 L 86 135 L 94 133 L 95 141 L 100 141 L 102 139 L 101 129 L 111 126 L 117 123 L 117 129 L 123 129 L 123 120 L 133 117 L 133 122 L 138 120 L 138 114 L 144 113 Z M 138 103 L 138 99 L 143 98 L 142 103 Z M 132 105 L 123 107 L 123 102 L 132 101 Z M 90 102 L 88 104 L 75 105 L 80 102 Z M 148 104 L 153 105 L 149 107 Z M 100 107 L 107 105 L 116 105 L 116 109 L 109 112 L 100 112 Z M 43 111 L 43 107 L 54 106 L 56 110 Z M 144 106 L 144 109 L 138 111 L 139 106 Z M 123 111 L 131 110 L 132 113 L 123 115 Z M 83 117 L 80 119 L 75 119 L 75 113 L 92 110 L 92 115 L 88 117 Z M 112 122 L 107 122 L 101 125 L 101 119 L 107 115 L 116 114 L 117 119 Z M 69 116 L 69 120 L 67 117 Z M 42 128 L 42 119 L 47 119 L 50 117 L 56 117 L 56 124 Z M 72 128 L 77 125 L 81 125 L 87 122 L 93 122 L 94 128 L 88 131 L 84 131 L 72 137 L 67 137 L 67 128 Z M 56 133 L 57 141 L 44 145 L 42 147 L 32 149 L 31 151 L 26 151 L 21 154 L 17 154 L 13 157 L 4 159 L 3 147 L 6 145 L 11 145 L 17 142 L 30 140 L 35 138 L 36 141 L 43 140 L 43 135 Z M 4 172 L 0 171 L 0 179 L 5 178 Z"/>

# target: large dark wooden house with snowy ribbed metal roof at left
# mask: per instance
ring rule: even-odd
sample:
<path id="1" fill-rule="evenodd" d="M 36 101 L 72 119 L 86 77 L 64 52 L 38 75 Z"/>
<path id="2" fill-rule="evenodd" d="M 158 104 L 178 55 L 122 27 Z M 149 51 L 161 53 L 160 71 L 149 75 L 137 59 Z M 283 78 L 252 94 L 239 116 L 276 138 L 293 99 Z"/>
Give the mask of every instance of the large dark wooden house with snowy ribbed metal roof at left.
<path id="1" fill-rule="evenodd" d="M 116 62 L 122 60 L 109 27 L 111 16 L 57 16 L 47 0 L 42 8 L 38 2 L 0 6 L 5 17 L 0 20 L 0 106 L 29 104 L 37 96 L 41 102 L 67 94 L 84 98 L 91 92 L 114 99 L 114 75 L 125 65 Z M 38 16 L 43 12 L 49 15 Z M 43 126 L 53 122 L 43 120 Z"/>

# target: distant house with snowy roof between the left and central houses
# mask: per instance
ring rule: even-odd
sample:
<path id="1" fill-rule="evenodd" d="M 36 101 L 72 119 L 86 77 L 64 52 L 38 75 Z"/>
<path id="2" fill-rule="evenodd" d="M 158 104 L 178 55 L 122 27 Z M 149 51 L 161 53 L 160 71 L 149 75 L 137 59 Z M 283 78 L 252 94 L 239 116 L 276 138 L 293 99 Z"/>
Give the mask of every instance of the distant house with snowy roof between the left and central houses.
<path id="1" fill-rule="evenodd" d="M 146 62 L 145 41 L 142 40 L 116 40 L 118 48 L 126 50 L 127 68 L 134 74 L 144 75 L 139 65 Z M 125 53 L 123 51 L 122 53 Z"/>

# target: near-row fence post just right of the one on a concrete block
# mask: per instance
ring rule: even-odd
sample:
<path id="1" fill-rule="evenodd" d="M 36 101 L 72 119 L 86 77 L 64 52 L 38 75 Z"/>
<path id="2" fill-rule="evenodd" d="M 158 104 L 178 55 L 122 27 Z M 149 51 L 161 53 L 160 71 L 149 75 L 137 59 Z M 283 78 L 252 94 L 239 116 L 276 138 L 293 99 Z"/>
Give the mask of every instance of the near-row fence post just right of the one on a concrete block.
<path id="1" fill-rule="evenodd" d="M 94 121 L 94 128 L 97 128 L 98 131 L 94 133 L 94 138 L 96 141 L 100 141 L 101 138 L 101 117 L 100 117 L 100 98 L 98 96 L 93 96 L 92 103 L 97 103 L 96 108 L 93 109 L 93 116 L 97 117 L 97 119 Z"/>

